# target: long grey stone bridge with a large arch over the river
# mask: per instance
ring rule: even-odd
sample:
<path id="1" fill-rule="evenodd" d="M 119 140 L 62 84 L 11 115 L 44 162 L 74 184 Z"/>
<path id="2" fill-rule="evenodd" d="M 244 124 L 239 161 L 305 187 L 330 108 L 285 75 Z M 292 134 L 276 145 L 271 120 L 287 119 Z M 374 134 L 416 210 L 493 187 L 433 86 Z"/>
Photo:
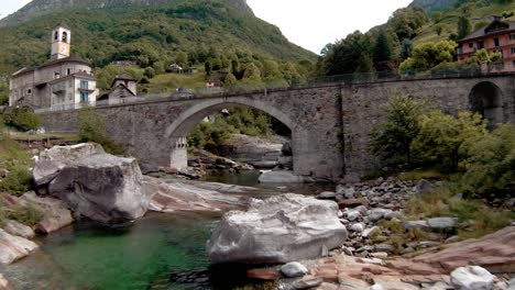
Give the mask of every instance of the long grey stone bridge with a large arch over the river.
<path id="1" fill-rule="evenodd" d="M 409 93 L 449 113 L 472 110 L 492 123 L 515 122 L 515 76 L 491 75 L 416 80 L 327 83 L 287 90 L 191 99 L 156 99 L 97 107 L 105 133 L 154 164 L 184 167 L 188 132 L 221 109 L 262 110 L 292 131 L 294 172 L 336 180 L 375 166 L 369 134 L 394 92 Z M 74 132 L 78 110 L 42 113 L 47 132 Z"/>

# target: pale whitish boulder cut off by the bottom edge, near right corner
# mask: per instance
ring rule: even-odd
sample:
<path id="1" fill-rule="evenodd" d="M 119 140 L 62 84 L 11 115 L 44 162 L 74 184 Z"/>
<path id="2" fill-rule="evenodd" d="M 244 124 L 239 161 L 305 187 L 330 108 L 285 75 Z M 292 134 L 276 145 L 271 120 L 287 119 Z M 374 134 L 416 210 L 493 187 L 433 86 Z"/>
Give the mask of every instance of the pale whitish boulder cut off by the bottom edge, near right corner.
<path id="1" fill-rule="evenodd" d="M 451 283 L 457 290 L 490 290 L 494 278 L 479 266 L 460 267 L 451 272 Z"/>

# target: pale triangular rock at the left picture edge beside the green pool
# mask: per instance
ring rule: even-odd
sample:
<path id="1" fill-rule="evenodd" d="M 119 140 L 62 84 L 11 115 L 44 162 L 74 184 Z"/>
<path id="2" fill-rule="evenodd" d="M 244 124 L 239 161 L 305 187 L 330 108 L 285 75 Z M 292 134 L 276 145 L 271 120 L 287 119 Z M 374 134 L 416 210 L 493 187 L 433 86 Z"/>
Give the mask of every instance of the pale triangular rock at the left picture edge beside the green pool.
<path id="1" fill-rule="evenodd" d="M 39 248 L 37 244 L 0 228 L 0 264 L 9 265 Z"/>

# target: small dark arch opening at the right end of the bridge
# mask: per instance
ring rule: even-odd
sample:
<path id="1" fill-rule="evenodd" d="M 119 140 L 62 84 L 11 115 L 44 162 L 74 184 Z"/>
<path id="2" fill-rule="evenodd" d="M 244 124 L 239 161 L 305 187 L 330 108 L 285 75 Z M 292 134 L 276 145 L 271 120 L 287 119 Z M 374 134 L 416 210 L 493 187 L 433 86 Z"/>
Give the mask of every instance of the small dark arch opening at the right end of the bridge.
<path id="1" fill-rule="evenodd" d="M 504 93 L 501 88 L 491 81 L 476 83 L 469 94 L 470 109 L 481 113 L 489 121 L 489 127 L 504 123 Z"/>

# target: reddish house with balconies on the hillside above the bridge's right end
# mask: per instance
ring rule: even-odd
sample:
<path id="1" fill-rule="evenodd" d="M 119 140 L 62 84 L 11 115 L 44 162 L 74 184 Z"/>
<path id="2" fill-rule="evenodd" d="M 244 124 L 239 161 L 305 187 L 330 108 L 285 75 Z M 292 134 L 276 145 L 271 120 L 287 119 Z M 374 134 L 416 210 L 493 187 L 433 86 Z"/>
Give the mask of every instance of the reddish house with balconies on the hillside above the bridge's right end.
<path id="1" fill-rule="evenodd" d="M 458 41 L 458 59 L 465 60 L 482 48 L 502 55 L 493 67 L 484 65 L 483 71 L 515 71 L 515 22 L 494 16 L 492 23 Z"/>

